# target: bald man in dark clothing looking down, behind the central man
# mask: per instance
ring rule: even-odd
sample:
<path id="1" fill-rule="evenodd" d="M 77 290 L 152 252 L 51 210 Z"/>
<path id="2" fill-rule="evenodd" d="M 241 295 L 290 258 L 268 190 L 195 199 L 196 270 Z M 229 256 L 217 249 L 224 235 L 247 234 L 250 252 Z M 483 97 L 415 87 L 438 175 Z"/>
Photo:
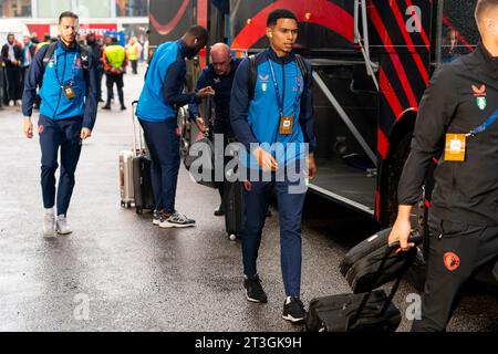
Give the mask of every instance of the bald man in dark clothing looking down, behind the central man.
<path id="1" fill-rule="evenodd" d="M 228 140 L 234 137 L 234 132 L 230 127 L 230 93 L 235 73 L 237 67 L 239 67 L 241 59 L 231 58 L 230 49 L 225 43 L 214 44 L 211 46 L 210 58 L 211 63 L 200 73 L 199 80 L 197 81 L 196 91 L 208 86 L 211 86 L 215 90 L 214 101 L 216 114 L 214 133 L 218 134 L 217 136 L 220 134 L 222 135 L 225 152 Z M 200 131 L 205 131 L 205 122 L 199 115 L 199 105 L 197 103 L 193 103 L 188 107 L 189 116 L 196 119 L 197 125 L 200 126 Z M 227 162 L 228 159 L 225 158 L 225 163 Z M 218 209 L 215 210 L 215 216 L 224 216 L 224 183 L 217 181 L 216 186 L 221 197 L 221 204 Z"/>

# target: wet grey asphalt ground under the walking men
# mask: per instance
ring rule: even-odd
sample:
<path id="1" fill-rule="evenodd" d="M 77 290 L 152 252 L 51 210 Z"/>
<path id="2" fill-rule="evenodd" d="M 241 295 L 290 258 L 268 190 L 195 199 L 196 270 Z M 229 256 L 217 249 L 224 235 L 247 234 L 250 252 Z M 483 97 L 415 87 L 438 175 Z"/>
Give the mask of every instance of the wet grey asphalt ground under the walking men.
<path id="1" fill-rule="evenodd" d="M 0 331 L 302 331 L 281 319 L 278 210 L 267 220 L 258 269 L 267 304 L 242 292 L 241 244 L 230 241 L 219 196 L 181 166 L 176 207 L 196 228 L 162 230 L 151 215 L 120 206 L 118 152 L 132 146 L 131 102 L 143 83 L 125 76 L 128 110 L 100 111 L 84 142 L 69 210 L 74 232 L 40 236 L 38 137 L 22 135 L 19 107 L 0 111 Z M 103 85 L 105 91 L 105 86 Z M 117 96 L 116 96 L 117 97 Z M 33 116 L 33 121 L 37 118 Z M 302 300 L 350 292 L 339 272 L 345 252 L 375 231 L 372 220 L 310 195 L 302 227 Z M 405 314 L 403 282 L 395 304 Z M 497 299 L 465 296 L 448 331 L 497 331 Z M 411 326 L 406 316 L 400 331 Z"/>

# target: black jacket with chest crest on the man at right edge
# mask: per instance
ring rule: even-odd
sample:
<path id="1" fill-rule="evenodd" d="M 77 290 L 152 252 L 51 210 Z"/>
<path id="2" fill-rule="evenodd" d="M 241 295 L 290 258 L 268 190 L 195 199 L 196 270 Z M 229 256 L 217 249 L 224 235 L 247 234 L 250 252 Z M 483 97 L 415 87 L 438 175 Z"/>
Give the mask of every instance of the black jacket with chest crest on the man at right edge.
<path id="1" fill-rule="evenodd" d="M 483 98 L 486 107 L 479 107 Z M 467 137 L 465 162 L 445 162 L 446 133 L 466 134 L 498 110 L 498 58 L 479 44 L 471 54 L 443 65 L 421 102 L 412 152 L 400 185 L 398 202 L 414 205 L 433 157 L 438 159 L 430 212 L 449 221 L 498 225 L 498 121 Z"/>

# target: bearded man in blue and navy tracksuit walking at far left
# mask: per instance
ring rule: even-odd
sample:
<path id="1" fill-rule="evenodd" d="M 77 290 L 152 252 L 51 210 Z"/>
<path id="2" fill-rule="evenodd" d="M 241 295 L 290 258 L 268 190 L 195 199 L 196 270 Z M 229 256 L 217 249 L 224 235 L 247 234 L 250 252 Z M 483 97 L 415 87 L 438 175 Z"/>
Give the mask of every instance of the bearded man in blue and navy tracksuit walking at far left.
<path id="1" fill-rule="evenodd" d="M 41 185 L 45 216 L 42 233 L 53 237 L 72 230 L 66 212 L 74 187 L 74 171 L 82 140 L 91 136 L 96 116 L 95 61 L 93 54 L 76 43 L 77 15 L 63 12 L 59 18 L 61 37 L 56 44 L 45 45 L 34 56 L 22 96 L 24 134 L 33 137 L 31 114 L 37 87 L 42 82 L 38 133 L 41 146 Z M 50 58 L 45 58 L 50 54 Z M 55 170 L 61 147 L 61 175 L 55 205 Z"/>

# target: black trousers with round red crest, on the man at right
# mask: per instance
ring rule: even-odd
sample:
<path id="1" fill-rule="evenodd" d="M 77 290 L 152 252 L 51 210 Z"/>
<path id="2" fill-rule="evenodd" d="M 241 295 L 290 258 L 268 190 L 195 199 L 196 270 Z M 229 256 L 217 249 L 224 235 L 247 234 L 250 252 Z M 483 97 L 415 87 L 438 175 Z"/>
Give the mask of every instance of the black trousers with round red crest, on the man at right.
<path id="1" fill-rule="evenodd" d="M 422 320 L 413 332 L 445 331 L 465 283 L 498 257 L 498 226 L 476 226 L 430 216 Z"/>

